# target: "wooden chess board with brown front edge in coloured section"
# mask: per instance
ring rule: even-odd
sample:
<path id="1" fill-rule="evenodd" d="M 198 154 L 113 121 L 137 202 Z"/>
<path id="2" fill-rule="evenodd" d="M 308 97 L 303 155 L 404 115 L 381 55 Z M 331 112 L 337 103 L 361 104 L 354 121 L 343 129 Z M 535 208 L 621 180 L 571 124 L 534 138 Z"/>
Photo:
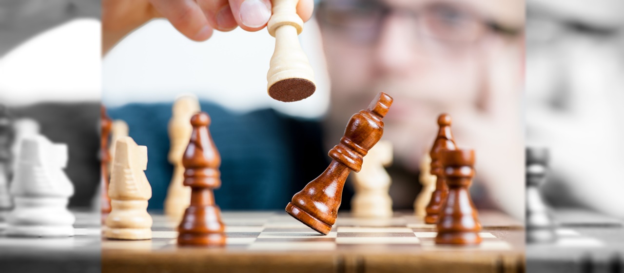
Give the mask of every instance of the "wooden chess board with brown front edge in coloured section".
<path id="1" fill-rule="evenodd" d="M 225 212 L 225 247 L 178 247 L 174 223 L 152 213 L 153 239 L 102 241 L 102 272 L 521 272 L 522 224 L 483 212 L 480 246 L 440 246 L 435 227 L 412 213 L 392 218 L 339 214 L 323 236 L 285 212 Z"/>

